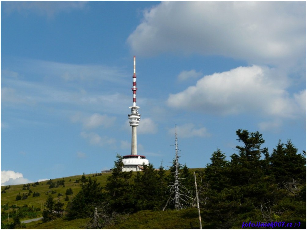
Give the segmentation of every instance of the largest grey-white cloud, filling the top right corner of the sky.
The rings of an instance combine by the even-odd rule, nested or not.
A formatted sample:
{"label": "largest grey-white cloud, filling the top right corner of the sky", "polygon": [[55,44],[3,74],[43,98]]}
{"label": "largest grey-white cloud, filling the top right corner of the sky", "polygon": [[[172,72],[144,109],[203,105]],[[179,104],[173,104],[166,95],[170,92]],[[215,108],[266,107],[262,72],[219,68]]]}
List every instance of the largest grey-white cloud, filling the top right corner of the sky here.
{"label": "largest grey-white cloud, filling the top right corner of the sky", "polygon": [[162,1],[144,11],[127,42],[137,55],[181,51],[305,63],[305,9],[305,1]]}

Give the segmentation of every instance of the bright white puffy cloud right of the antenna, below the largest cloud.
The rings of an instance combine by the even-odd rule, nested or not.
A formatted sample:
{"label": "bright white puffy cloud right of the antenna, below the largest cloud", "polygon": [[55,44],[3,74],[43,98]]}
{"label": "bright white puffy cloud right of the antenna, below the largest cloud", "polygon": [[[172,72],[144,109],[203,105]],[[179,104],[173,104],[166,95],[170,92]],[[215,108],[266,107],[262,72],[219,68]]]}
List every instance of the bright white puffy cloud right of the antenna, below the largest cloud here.
{"label": "bright white puffy cloud right of the antenna, below the largest cloud", "polygon": [[[274,69],[261,66],[238,67],[207,75],[177,94],[170,94],[170,107],[215,115],[260,113],[279,117],[296,117],[306,104],[303,91],[290,96],[287,82]],[[304,94],[305,93],[305,94]],[[298,105],[297,101],[300,101]],[[306,99],[305,99],[306,101]]]}

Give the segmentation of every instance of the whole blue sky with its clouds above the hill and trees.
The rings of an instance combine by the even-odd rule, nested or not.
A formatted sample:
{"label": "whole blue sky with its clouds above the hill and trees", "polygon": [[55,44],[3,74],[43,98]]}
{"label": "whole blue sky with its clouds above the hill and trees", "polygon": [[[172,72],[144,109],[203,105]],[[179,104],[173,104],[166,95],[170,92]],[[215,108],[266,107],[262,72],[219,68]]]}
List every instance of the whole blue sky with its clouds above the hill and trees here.
{"label": "whole blue sky with its clouds above the hill and trees", "polygon": [[1,1],[1,185],[130,154],[205,167],[237,129],[306,150],[306,1]]}

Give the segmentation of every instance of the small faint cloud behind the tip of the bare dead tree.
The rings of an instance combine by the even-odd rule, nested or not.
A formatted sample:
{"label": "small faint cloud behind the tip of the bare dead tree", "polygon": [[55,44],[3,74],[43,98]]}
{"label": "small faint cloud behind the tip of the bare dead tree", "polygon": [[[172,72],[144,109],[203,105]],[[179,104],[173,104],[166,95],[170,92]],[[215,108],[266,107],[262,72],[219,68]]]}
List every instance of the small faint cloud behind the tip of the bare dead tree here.
{"label": "small faint cloud behind the tip of the bare dead tree", "polygon": [[[209,137],[209,134],[205,127],[197,128],[192,123],[176,126],[177,136],[180,138],[191,138],[191,137]],[[169,129],[169,134],[175,134],[175,128]]]}

